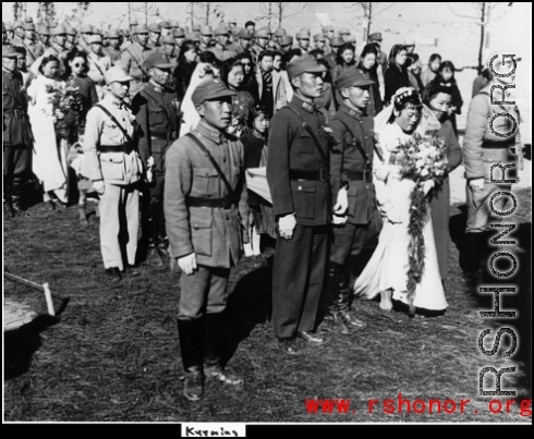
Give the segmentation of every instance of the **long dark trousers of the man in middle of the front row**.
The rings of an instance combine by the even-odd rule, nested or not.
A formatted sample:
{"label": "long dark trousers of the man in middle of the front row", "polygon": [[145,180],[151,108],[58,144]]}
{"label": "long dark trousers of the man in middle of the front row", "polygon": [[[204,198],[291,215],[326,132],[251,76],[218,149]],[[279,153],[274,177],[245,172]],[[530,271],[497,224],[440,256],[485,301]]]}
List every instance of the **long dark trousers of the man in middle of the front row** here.
{"label": "long dark trousers of the man in middle of the front row", "polygon": [[328,261],[327,225],[296,224],[293,237],[277,239],[272,266],[272,328],[294,337],[315,328]]}

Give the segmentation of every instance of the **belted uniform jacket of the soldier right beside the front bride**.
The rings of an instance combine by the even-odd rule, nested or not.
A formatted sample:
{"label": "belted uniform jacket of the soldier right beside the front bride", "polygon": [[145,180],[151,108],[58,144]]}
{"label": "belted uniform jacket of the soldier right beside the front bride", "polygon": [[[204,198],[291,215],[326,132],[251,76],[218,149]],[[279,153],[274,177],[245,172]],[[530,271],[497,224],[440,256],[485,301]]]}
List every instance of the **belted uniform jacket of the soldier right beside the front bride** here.
{"label": "belted uniform jacket of the soldier right beside the front bride", "polygon": [[[354,138],[345,125],[356,135],[356,138]],[[366,183],[364,181],[351,180],[347,172],[362,172],[367,170],[372,179],[373,148],[375,145],[373,117],[363,114],[343,102],[339,111],[331,119],[329,126],[333,131],[333,136],[339,142],[330,156],[332,197],[336,199],[339,188],[348,183],[348,222],[351,224],[367,224],[373,219],[376,209],[375,186],[372,182]],[[365,150],[368,159],[367,166],[354,141]]]}

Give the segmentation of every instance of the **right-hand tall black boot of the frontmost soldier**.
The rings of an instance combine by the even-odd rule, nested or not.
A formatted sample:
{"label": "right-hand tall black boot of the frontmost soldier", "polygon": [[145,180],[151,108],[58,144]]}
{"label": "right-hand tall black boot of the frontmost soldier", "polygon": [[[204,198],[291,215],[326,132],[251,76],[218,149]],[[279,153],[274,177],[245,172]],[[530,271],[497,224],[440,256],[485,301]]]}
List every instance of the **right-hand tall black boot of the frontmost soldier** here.
{"label": "right-hand tall black boot of the frontmost soldier", "polygon": [[240,386],[243,380],[228,374],[221,364],[223,342],[224,313],[206,314],[204,326],[204,373],[207,378],[215,378],[226,385]]}

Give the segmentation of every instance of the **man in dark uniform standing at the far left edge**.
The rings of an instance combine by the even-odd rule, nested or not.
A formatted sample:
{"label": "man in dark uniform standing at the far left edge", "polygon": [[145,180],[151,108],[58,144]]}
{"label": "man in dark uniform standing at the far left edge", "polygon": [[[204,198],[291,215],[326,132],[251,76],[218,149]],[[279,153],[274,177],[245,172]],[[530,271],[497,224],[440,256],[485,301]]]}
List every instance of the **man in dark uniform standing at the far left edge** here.
{"label": "man in dark uniform standing at the far left edge", "polygon": [[16,52],[2,46],[3,202],[9,214],[21,211],[21,195],[32,173],[33,136]]}

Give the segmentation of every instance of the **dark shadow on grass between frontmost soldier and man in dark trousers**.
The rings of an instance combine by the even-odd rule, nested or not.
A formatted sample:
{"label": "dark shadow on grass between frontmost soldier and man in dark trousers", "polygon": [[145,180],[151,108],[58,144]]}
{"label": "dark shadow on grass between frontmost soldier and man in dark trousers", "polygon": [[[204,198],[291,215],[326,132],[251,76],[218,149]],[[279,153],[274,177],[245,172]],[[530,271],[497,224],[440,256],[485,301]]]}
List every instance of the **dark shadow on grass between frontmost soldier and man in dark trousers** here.
{"label": "dark shadow on grass between frontmost soldier and man in dark trousers", "polygon": [[270,320],[272,314],[272,257],[267,264],[243,276],[227,306],[228,338],[223,355],[226,364],[236,351],[239,343],[251,334],[253,329]]}

